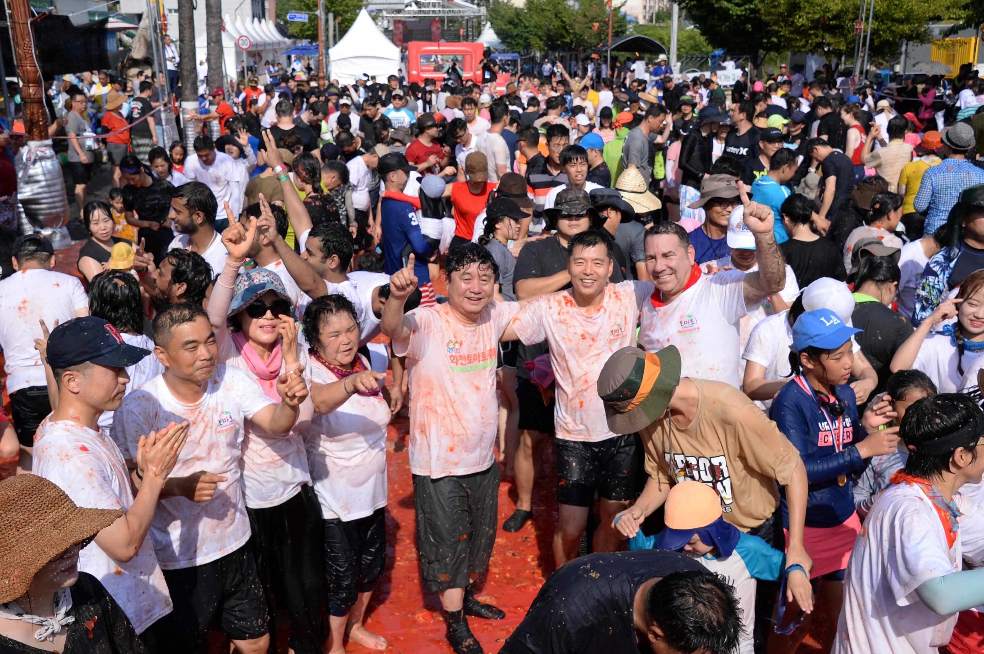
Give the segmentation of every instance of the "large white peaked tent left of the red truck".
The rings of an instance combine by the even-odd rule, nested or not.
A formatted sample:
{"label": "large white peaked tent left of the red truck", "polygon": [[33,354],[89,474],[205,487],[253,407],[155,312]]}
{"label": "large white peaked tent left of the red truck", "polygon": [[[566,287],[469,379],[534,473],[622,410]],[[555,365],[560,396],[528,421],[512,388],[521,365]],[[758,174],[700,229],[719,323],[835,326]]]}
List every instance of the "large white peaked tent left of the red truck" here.
{"label": "large white peaked tent left of the red truck", "polygon": [[328,56],[332,78],[341,84],[352,84],[363,73],[385,80],[388,75],[396,75],[400,68],[400,48],[376,27],[365,9],[329,50]]}

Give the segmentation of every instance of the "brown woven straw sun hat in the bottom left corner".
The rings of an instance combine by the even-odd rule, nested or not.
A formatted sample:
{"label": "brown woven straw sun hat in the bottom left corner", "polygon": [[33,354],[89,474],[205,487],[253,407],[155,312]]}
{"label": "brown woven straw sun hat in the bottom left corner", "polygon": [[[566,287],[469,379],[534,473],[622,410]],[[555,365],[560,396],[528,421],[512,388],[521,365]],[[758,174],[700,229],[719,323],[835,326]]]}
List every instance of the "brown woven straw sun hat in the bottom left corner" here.
{"label": "brown woven straw sun hat in the bottom left corner", "polygon": [[116,521],[123,511],[80,508],[65,492],[36,475],[0,482],[0,603],[28,592],[37,571]]}

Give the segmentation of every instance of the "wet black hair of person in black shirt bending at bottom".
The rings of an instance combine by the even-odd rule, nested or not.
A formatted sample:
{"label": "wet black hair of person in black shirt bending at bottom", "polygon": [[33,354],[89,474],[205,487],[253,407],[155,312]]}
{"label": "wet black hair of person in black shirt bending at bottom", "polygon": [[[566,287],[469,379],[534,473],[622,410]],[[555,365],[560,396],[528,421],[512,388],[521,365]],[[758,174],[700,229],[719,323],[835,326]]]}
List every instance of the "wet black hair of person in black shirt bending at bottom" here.
{"label": "wet black hair of person in black shirt bending at bottom", "polygon": [[667,574],[649,589],[646,616],[674,651],[730,654],[738,649],[741,609],[734,588],[720,574]]}

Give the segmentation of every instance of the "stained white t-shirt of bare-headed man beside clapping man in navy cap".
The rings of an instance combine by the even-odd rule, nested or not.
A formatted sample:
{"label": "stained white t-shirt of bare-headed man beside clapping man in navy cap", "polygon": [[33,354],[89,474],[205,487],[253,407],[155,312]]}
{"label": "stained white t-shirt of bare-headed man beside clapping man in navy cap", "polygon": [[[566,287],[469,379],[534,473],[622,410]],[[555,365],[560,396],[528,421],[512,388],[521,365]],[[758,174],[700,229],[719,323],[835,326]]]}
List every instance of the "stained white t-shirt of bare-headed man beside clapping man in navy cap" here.
{"label": "stained white t-shirt of bare-headed man beside clapping man in navy cap", "polygon": [[248,374],[232,366],[215,366],[206,385],[201,399],[185,404],[158,375],[127,395],[113,416],[113,440],[123,438],[134,459],[141,435],[187,420],[188,440],[171,476],[205,470],[225,477],[209,502],[183,497],[157,502],[151,538],[165,570],[211,563],[238,550],[250,536],[240,473],[243,422],[274,400]]}

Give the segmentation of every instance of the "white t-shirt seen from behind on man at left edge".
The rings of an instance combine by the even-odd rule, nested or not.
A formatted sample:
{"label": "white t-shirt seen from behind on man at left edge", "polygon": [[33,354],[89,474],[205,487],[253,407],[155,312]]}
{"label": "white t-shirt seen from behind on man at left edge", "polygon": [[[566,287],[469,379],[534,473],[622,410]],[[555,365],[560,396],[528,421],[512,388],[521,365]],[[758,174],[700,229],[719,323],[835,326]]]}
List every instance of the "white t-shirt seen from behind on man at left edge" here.
{"label": "white t-shirt seen from behind on man at left edge", "polygon": [[75,312],[89,311],[89,296],[78,277],[30,268],[0,281],[0,347],[3,347],[7,392],[47,386],[44,364],[34,349],[43,320],[48,329],[64,325]]}

